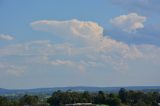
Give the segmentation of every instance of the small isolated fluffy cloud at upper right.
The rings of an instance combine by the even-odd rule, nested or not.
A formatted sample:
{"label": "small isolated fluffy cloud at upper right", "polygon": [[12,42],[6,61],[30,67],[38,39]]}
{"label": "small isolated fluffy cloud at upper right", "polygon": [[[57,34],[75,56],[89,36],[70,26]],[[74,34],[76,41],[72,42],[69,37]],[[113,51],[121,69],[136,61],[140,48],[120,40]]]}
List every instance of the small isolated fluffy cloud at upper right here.
{"label": "small isolated fluffy cloud at upper right", "polygon": [[145,16],[140,16],[137,13],[121,15],[110,20],[110,23],[123,31],[134,32],[137,29],[144,28]]}

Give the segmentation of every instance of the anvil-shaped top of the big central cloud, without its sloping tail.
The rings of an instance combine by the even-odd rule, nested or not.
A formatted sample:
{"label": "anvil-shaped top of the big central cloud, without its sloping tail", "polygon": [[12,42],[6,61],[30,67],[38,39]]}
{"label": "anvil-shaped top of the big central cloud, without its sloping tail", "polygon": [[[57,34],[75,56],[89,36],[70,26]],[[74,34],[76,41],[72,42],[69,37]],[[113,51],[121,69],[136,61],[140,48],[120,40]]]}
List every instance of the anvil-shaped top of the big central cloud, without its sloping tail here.
{"label": "anvil-shaped top of the big central cloud, without its sloping tail", "polygon": [[[63,37],[77,39],[99,39],[103,34],[103,28],[95,22],[83,22],[77,19],[67,21],[40,20],[31,23],[35,30],[52,32]],[[68,36],[69,35],[69,36]]]}

